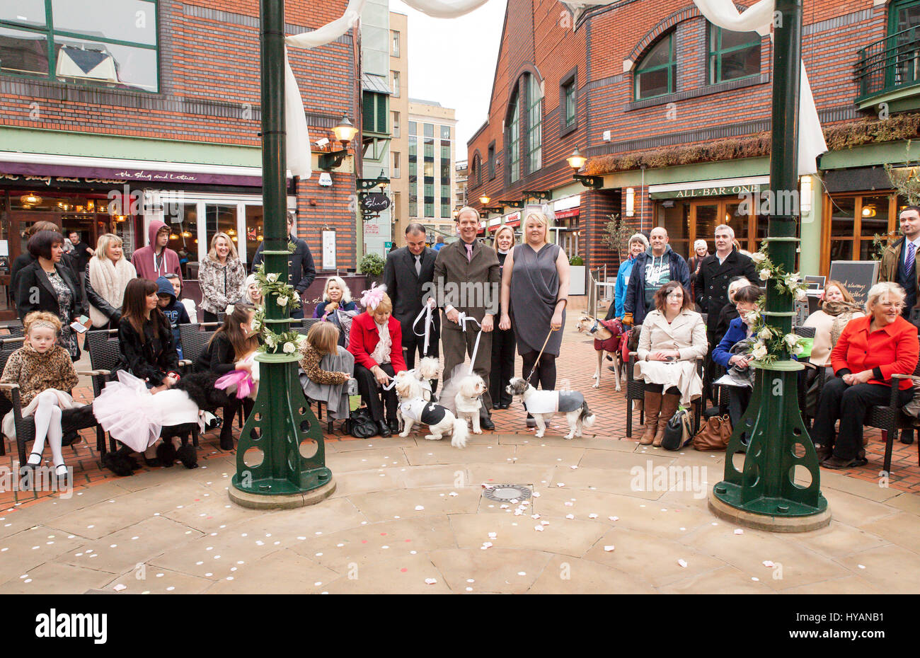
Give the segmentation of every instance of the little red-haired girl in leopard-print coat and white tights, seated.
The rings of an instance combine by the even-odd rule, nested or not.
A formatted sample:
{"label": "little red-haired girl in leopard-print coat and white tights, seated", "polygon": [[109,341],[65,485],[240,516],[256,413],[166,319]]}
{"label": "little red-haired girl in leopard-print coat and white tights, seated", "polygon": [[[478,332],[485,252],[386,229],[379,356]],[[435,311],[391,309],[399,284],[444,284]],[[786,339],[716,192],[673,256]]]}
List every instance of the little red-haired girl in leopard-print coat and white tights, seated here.
{"label": "little red-haired girl in leopard-print coat and white tights, seated", "polygon": [[[39,466],[47,442],[52,449],[55,475],[63,478],[67,475],[67,467],[61,451],[62,413],[63,410],[83,406],[70,395],[77,383],[74,362],[70,353],[56,343],[61,331],[61,320],[57,316],[46,311],[33,311],[22,324],[26,338],[22,347],[7,359],[0,383],[19,387],[19,402],[25,405],[22,415],[32,416],[35,420],[35,442],[26,463]],[[13,398],[6,389],[3,394]],[[4,416],[3,433],[10,439],[16,439],[12,410]]]}

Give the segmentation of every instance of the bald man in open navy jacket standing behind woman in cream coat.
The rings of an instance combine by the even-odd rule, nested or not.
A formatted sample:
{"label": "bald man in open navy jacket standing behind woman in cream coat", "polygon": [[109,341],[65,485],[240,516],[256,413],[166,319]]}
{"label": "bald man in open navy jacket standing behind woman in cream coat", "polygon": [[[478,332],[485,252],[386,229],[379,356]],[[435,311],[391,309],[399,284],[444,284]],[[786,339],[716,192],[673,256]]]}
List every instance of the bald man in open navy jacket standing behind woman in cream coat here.
{"label": "bald man in open navy jacket standing behind woman in cream coat", "polygon": [[629,275],[627,296],[623,302],[623,322],[640,325],[655,307],[655,293],[662,285],[679,281],[684,294],[690,294],[690,269],[687,261],[668,244],[664,226],[655,226],[649,234],[650,248],[636,257]]}

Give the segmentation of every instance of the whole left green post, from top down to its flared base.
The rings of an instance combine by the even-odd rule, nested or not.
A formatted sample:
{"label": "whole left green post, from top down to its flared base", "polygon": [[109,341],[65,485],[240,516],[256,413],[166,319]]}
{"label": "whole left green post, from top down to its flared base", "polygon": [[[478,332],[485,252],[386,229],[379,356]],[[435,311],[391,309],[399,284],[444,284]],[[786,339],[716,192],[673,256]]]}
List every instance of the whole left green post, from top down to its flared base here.
{"label": "whole left green post, from top down to its flared base", "polygon": [[[288,280],[287,164],[284,151],[284,2],[260,0],[262,207],[265,271]],[[290,326],[277,294],[265,300],[265,325]],[[245,507],[299,507],[327,498],[335,480],[326,468],[323,433],[297,377],[298,352],[259,353],[259,395],[236,447],[230,499]],[[229,420],[227,420],[229,422]],[[247,461],[249,464],[247,464]]]}

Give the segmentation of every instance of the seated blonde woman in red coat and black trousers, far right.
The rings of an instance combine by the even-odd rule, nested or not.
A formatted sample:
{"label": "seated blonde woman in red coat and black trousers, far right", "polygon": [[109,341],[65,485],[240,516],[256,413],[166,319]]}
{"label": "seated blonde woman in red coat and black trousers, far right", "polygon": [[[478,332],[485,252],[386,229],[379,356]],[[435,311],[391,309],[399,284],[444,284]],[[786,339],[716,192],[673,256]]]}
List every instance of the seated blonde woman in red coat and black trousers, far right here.
{"label": "seated blonde woman in red coat and black trousers, far right", "polygon": [[[866,464],[863,418],[873,405],[887,405],[891,387],[906,404],[913,397],[910,379],[917,364],[917,329],[901,317],[904,290],[897,283],[876,283],[868,291],[868,316],[850,320],[831,352],[834,379],[821,391],[811,436],[821,444],[822,466],[852,468]],[[840,431],[834,437],[834,423]]]}

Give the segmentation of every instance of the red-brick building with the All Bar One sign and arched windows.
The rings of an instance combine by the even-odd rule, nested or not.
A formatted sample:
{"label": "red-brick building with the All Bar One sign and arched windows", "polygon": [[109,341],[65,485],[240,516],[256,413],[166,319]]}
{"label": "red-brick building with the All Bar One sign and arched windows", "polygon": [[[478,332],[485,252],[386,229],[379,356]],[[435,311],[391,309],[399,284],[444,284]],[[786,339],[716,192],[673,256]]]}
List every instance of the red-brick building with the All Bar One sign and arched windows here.
{"label": "red-brick building with the All Bar One sign and arched windows", "polygon": [[[904,199],[884,165],[906,172],[920,159],[909,142],[920,127],[918,25],[920,0],[805,6],[802,57],[830,149],[801,181],[805,273],[868,259],[873,236],[897,228]],[[745,213],[739,195],[768,183],[772,54],[768,37],[718,29],[689,0],[575,14],[509,0],[489,117],[467,147],[484,230],[550,196],[569,255],[611,275],[619,258],[601,238],[614,213],[646,232],[665,226],[684,256],[697,237],[712,250],[722,223],[758,248],[766,217]],[[576,148],[592,177],[583,185],[566,161]]]}

